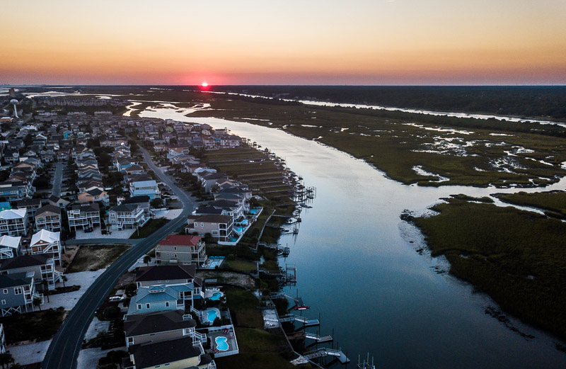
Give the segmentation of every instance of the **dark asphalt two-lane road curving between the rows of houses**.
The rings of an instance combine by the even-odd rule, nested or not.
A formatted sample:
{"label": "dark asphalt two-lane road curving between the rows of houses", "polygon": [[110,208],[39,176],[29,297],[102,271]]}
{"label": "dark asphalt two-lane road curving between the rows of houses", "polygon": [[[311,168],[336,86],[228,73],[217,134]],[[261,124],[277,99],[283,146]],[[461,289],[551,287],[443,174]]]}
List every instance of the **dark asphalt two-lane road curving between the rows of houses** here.
{"label": "dark asphalt two-lane road curving between the rows of houses", "polygon": [[102,304],[110,290],[127,269],[132,266],[137,259],[151,250],[163,237],[176,231],[181,225],[187,222],[187,215],[192,212],[195,203],[175,183],[168,178],[161,169],[158,169],[153,162],[149,153],[140,147],[141,152],[149,167],[154,171],[163,183],[165,183],[178,196],[183,203],[183,212],[167,225],[156,230],[141,242],[132,246],[124,255],[117,259],[112,265],[91,285],[84,293],[81,300],[76,303],[75,307],[69,313],[67,319],[64,320],[62,326],[53,337],[51,345],[45,354],[45,358],[41,365],[42,369],[74,369],[76,368],[76,358],[79,356],[81,345],[83,342],[86,329],[94,317],[96,309]]}

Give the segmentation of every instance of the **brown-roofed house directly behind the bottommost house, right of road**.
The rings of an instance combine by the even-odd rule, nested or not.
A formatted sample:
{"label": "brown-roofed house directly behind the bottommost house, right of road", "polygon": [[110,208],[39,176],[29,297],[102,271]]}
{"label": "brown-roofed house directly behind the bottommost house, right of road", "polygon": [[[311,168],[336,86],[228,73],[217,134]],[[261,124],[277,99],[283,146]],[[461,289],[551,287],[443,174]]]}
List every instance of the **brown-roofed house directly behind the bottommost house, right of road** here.
{"label": "brown-roofed house directly behind the bottommost house, right of road", "polygon": [[124,332],[126,347],[146,342],[192,338],[193,344],[206,342],[207,335],[195,331],[197,322],[182,310],[126,315]]}

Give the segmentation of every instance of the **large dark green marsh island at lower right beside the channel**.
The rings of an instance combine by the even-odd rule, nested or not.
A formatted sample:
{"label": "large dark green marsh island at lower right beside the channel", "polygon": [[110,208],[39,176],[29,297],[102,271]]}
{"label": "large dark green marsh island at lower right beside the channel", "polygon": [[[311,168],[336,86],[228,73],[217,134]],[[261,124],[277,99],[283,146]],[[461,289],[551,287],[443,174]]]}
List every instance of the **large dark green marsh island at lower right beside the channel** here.
{"label": "large dark green marsh island at lower right beside the channel", "polygon": [[415,224],[451,273],[524,321],[566,338],[566,223],[451,198]]}

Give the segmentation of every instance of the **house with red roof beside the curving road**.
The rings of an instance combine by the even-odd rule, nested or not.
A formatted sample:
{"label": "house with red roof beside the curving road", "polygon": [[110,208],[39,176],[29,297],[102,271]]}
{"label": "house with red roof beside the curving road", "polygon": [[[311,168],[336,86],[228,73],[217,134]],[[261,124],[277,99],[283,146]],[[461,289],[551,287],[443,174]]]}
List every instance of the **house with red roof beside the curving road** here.
{"label": "house with red roof beside the curving road", "polygon": [[208,259],[202,237],[184,234],[169,234],[157,244],[155,253],[158,264],[200,266]]}

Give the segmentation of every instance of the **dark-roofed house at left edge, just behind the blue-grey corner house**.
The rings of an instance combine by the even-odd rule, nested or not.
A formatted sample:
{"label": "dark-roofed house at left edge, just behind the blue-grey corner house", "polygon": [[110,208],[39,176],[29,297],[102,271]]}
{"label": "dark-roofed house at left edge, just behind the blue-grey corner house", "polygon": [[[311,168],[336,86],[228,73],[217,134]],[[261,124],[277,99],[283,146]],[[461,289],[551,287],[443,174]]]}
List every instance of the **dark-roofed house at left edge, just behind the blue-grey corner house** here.
{"label": "dark-roofed house at left edge, just behind the blue-grey corner house", "polygon": [[[0,275],[15,275],[21,273],[33,274],[36,288],[44,290],[55,289],[55,283],[62,281],[63,273],[55,269],[55,261],[47,254],[21,255],[6,259],[0,264]],[[47,281],[47,286],[43,284]]]}

